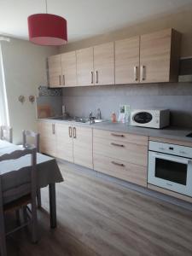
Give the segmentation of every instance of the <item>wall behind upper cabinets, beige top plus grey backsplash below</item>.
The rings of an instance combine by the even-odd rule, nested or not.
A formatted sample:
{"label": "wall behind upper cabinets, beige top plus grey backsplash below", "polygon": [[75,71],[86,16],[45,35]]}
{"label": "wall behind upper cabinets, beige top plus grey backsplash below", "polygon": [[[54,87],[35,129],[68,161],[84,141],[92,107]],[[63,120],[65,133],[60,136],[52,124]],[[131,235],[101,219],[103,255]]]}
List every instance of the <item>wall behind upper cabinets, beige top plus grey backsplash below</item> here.
{"label": "wall behind upper cabinets, beige top plus grey backsplash below", "polygon": [[[175,15],[143,20],[143,23],[135,26],[127,26],[116,32],[108,32],[95,38],[67,44],[61,47],[60,52],[129,38],[167,27],[173,27],[183,33],[181,56],[192,56],[191,8]],[[63,104],[72,115],[87,116],[90,110],[101,108],[102,117],[108,119],[112,111],[119,113],[119,105],[124,103],[130,104],[131,108],[170,108],[172,125],[192,128],[192,83],[129,84],[63,89]]]}

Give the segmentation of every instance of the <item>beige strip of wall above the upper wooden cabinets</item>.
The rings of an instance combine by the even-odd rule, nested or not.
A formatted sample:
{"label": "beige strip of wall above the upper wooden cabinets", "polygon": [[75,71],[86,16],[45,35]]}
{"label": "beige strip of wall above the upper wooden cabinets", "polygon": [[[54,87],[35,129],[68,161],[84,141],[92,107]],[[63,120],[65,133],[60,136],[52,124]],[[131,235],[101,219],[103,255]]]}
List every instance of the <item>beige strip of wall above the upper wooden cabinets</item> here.
{"label": "beige strip of wall above the upper wooden cabinets", "polygon": [[148,32],[155,32],[168,27],[175,28],[178,32],[183,33],[181,56],[192,56],[192,6],[189,6],[187,11],[160,16],[150,20],[143,20],[143,22],[132,26],[127,25],[125,28],[118,31],[108,32],[103,35],[97,35],[94,38],[88,38],[79,42],[66,44],[60,48],[60,52],[62,53],[74,49],[82,49],[122,38],[131,38],[133,36]]}

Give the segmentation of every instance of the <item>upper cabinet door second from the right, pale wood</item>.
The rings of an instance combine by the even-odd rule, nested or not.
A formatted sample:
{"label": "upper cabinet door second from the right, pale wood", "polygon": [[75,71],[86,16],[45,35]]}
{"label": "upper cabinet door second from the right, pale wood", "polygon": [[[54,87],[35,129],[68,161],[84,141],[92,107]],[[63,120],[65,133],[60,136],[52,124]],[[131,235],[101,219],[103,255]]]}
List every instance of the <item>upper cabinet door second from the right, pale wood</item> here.
{"label": "upper cabinet door second from the right, pale wood", "polygon": [[115,42],[115,84],[139,82],[139,37]]}

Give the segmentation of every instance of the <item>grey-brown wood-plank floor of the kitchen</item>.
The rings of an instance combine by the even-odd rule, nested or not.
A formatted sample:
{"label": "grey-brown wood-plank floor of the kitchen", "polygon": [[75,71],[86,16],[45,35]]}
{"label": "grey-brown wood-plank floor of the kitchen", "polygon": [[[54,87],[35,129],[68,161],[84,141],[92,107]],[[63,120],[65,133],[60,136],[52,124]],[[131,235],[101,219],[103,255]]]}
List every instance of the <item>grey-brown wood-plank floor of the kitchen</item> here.
{"label": "grey-brown wood-plank floor of the kitchen", "polygon": [[78,167],[61,164],[58,228],[49,230],[48,190],[39,215],[39,242],[26,231],[9,237],[10,256],[192,255],[192,212],[131,191]]}

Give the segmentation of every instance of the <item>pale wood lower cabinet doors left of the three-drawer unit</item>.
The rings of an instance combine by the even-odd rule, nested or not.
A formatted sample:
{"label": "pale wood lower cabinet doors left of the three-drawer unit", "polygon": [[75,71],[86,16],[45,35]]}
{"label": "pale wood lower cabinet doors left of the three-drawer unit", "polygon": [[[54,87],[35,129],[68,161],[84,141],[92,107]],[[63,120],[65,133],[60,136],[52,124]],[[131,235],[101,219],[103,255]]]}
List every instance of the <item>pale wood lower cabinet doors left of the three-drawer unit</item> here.
{"label": "pale wood lower cabinet doors left of the three-drawer unit", "polygon": [[92,128],[41,121],[38,132],[42,153],[93,168]]}

